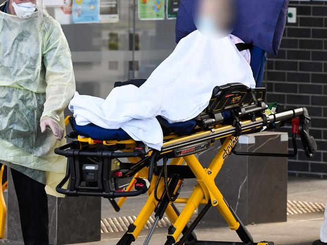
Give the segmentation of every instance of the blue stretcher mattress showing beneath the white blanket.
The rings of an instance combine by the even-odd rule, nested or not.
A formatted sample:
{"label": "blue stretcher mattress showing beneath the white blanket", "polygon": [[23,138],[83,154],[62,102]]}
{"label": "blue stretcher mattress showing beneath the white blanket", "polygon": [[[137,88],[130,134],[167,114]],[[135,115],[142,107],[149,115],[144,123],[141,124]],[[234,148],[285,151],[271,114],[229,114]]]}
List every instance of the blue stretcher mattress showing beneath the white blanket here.
{"label": "blue stretcher mattress showing beneath the white blanket", "polygon": [[[196,126],[196,120],[192,119],[186,122],[169,123],[166,119],[160,118],[160,121],[165,122],[172,132],[179,135],[189,134]],[[94,124],[86,126],[78,126],[74,120],[74,130],[78,135],[90,137],[95,140],[128,140],[131,137],[123,129],[105,129]]]}

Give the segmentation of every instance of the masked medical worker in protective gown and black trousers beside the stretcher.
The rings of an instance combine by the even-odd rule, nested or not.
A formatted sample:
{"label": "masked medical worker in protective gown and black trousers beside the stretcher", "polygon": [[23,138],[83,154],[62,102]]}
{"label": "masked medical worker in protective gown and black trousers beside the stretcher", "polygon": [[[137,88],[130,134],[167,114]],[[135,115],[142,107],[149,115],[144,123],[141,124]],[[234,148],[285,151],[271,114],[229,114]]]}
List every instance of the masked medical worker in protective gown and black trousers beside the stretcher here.
{"label": "masked medical worker in protective gown and black trousers beside the stretcher", "polygon": [[63,110],[74,92],[68,43],[41,0],[2,4],[0,162],[12,172],[27,245],[49,244],[46,191],[58,195],[65,173],[54,148],[65,143]]}

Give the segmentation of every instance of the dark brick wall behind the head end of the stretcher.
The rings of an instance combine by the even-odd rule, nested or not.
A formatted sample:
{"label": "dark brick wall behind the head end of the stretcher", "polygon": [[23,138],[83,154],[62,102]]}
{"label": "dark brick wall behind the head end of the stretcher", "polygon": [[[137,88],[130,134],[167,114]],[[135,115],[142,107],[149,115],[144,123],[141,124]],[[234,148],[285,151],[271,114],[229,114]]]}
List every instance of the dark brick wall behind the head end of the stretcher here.
{"label": "dark brick wall behind the head end of the stretcher", "polygon": [[267,101],[308,108],[318,151],[309,159],[299,150],[289,158],[289,173],[327,177],[327,2],[291,1],[289,7],[297,8],[297,22],[287,23],[278,56],[269,56]]}

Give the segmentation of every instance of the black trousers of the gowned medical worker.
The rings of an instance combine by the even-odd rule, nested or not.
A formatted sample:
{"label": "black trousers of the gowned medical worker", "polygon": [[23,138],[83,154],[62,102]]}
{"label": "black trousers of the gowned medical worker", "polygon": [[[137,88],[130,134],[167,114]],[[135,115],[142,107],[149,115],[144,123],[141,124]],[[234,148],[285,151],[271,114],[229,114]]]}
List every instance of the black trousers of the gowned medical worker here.
{"label": "black trousers of the gowned medical worker", "polygon": [[49,245],[48,198],[45,185],[11,169],[25,245]]}

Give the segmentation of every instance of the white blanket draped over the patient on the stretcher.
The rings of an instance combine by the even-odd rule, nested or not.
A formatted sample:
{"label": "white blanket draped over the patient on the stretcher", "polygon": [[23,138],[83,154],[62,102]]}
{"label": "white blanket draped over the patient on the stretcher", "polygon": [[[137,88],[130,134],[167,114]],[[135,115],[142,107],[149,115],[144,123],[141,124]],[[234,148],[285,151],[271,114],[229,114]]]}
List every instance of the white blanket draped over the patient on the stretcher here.
{"label": "white blanket draped over the patient on the stretcher", "polygon": [[179,42],[140,88],[114,88],[106,100],[76,92],[69,110],[77,125],[122,128],[134,140],[160,149],[163,136],[155,116],[170,122],[195,118],[208,105],[213,88],[228,83],[254,88],[249,63],[228,37],[209,39],[194,31]]}

